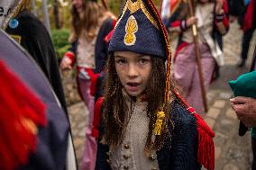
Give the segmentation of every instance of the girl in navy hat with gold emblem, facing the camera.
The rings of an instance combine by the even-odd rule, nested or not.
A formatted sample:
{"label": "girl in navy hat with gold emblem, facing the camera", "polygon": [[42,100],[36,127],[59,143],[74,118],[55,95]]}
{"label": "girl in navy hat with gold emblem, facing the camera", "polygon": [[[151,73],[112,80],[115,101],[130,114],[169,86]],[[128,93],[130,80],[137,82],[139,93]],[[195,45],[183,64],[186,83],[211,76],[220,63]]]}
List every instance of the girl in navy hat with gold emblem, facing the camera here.
{"label": "girl in navy hat with gold emblem, facing the camera", "polygon": [[151,0],[126,2],[109,52],[96,169],[213,170],[214,133],[174,91],[167,33]]}

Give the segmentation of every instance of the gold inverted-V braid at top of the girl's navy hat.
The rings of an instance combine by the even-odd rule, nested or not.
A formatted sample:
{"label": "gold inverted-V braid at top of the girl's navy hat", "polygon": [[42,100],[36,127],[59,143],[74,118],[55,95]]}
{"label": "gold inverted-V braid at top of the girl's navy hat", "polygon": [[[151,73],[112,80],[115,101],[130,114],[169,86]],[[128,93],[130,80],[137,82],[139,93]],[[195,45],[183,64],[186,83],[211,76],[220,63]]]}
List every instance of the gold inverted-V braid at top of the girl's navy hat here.
{"label": "gold inverted-V braid at top of the girl's navy hat", "polygon": [[142,0],[137,0],[136,2],[132,2],[131,0],[127,0],[125,6],[123,7],[123,13],[119,20],[115,24],[115,28],[118,25],[118,23],[122,20],[124,13],[126,10],[129,9],[131,12],[130,14],[133,14],[137,12],[139,9],[142,10],[142,12],[145,14],[145,16],[148,18],[148,20],[159,30],[158,23],[156,20],[151,16],[151,13],[148,12],[146,6],[142,3]]}

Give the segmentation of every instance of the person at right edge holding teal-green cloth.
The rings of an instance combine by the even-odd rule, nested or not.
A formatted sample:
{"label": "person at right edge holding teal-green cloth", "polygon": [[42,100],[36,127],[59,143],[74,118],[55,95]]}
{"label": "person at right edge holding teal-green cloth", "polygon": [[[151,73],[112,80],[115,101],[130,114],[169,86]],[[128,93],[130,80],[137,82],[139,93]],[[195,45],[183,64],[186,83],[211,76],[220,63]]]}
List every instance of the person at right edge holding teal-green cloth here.
{"label": "person at right edge holding teal-green cloth", "polygon": [[[253,58],[256,58],[256,46]],[[255,60],[254,60],[255,62]],[[256,169],[256,66],[251,66],[251,72],[244,74],[233,83],[233,93],[236,97],[230,99],[231,106],[241,121],[239,135],[243,136],[251,128],[251,148],[253,161],[251,169]],[[240,84],[240,85],[239,85]]]}

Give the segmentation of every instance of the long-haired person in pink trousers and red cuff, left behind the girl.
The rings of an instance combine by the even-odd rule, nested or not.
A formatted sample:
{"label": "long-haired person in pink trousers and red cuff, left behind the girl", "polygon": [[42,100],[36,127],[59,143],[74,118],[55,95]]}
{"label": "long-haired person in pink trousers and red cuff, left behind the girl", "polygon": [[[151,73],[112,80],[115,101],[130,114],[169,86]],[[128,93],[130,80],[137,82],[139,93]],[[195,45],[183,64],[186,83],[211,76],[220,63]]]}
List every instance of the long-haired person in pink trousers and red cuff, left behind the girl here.
{"label": "long-haired person in pink trousers and red cuff, left behind the girl", "polygon": [[86,144],[81,169],[94,170],[96,140],[91,136],[94,115],[96,79],[105,66],[108,43],[105,36],[113,29],[114,19],[94,1],[73,0],[69,41],[72,48],[60,63],[71,68],[77,61],[78,92],[88,108]]}

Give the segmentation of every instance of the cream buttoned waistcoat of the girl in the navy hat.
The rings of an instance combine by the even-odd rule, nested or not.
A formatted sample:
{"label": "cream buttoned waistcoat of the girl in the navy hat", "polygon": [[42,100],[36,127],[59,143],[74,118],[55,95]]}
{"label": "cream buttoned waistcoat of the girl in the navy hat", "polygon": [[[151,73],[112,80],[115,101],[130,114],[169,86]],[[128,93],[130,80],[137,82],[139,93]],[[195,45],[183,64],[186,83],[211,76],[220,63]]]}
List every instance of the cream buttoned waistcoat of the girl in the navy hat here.
{"label": "cream buttoned waistcoat of the girl in the navy hat", "polygon": [[[127,104],[130,106],[130,102]],[[133,114],[127,124],[122,145],[110,148],[110,166],[113,170],[159,170],[156,152],[152,153],[154,160],[144,153],[150,121],[146,112],[147,103],[137,102],[132,105]]]}

